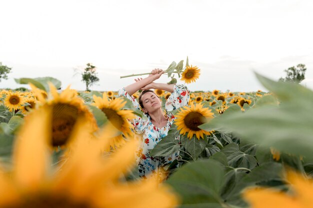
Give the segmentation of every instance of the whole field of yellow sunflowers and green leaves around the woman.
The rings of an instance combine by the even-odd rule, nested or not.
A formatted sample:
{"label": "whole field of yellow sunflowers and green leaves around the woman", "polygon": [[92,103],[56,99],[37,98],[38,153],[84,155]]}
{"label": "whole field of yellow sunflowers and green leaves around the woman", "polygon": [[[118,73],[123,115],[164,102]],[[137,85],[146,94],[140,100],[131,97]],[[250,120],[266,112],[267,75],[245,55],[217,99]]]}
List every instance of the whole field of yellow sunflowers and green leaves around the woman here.
{"label": "whole field of yellow sunflowers and green leaves around the woman", "polygon": [[[166,72],[187,83],[198,70],[179,62]],[[313,92],[256,76],[268,92],[190,92],[150,149],[179,156],[147,179],[127,121],[144,116],[129,100],[15,79],[31,90],[0,91],[0,207],[311,207]],[[163,106],[170,95],[155,94]]]}

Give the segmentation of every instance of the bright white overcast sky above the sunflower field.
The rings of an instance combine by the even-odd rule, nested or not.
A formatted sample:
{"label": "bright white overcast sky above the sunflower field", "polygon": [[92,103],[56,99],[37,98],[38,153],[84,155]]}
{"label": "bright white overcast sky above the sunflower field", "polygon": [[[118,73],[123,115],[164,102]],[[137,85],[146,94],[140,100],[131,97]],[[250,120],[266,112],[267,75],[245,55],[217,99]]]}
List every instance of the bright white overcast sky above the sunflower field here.
{"label": "bright white overcast sky above the sunflower field", "polygon": [[121,75],[186,56],[201,69],[192,91],[264,90],[253,71],[278,79],[298,63],[313,88],[312,10],[311,0],[0,0],[0,61],[12,67],[0,88],[52,76],[83,90],[73,68],[91,62],[91,89],[117,90],[134,78]]}

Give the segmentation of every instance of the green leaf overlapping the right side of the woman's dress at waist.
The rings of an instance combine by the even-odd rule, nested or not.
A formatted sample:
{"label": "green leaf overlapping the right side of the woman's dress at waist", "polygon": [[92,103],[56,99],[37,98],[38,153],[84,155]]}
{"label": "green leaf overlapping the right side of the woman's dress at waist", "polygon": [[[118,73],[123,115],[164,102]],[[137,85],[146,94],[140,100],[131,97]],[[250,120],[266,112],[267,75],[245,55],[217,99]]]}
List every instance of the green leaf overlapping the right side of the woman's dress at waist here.
{"label": "green leaf overlapping the right side of the woman's dress at waist", "polygon": [[175,139],[179,135],[176,128],[170,128],[167,135],[162,138],[150,151],[151,156],[167,156],[179,151],[179,140]]}

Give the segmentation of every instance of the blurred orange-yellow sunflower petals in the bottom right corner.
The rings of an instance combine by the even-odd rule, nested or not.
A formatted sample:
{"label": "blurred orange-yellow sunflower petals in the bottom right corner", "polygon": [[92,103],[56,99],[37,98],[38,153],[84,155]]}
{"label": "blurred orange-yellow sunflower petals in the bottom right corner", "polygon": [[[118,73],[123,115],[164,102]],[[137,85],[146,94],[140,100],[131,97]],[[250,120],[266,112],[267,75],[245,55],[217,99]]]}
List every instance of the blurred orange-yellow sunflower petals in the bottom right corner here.
{"label": "blurred orange-yellow sunflower petals in the bottom right corner", "polygon": [[287,181],[291,191],[282,192],[273,188],[249,188],[243,192],[243,197],[253,208],[285,208],[312,207],[313,181],[293,171],[287,172]]}

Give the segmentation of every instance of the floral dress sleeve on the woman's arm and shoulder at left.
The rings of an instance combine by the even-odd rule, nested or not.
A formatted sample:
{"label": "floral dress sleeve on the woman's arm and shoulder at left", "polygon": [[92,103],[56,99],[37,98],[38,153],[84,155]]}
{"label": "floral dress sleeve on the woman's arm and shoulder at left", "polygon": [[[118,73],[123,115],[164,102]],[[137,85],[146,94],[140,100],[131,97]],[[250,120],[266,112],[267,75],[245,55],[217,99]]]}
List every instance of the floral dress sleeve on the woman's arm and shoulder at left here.
{"label": "floral dress sleeve on the woman's arm and shoulder at left", "polygon": [[[137,100],[132,96],[132,95],[129,95],[127,93],[127,91],[125,90],[125,88],[121,88],[118,90],[118,96],[124,96],[126,97],[127,99],[129,99],[131,102],[132,102],[132,105],[136,108],[136,109],[140,109],[140,105],[139,103],[137,102]],[[144,129],[145,127],[145,124],[146,124],[146,120],[147,119],[142,119],[141,117],[135,115],[136,118],[133,118],[133,119],[128,119],[128,121],[130,121],[130,123],[133,125],[134,127],[134,130],[138,133],[141,133],[142,130]],[[144,114],[144,116],[146,116]]]}

